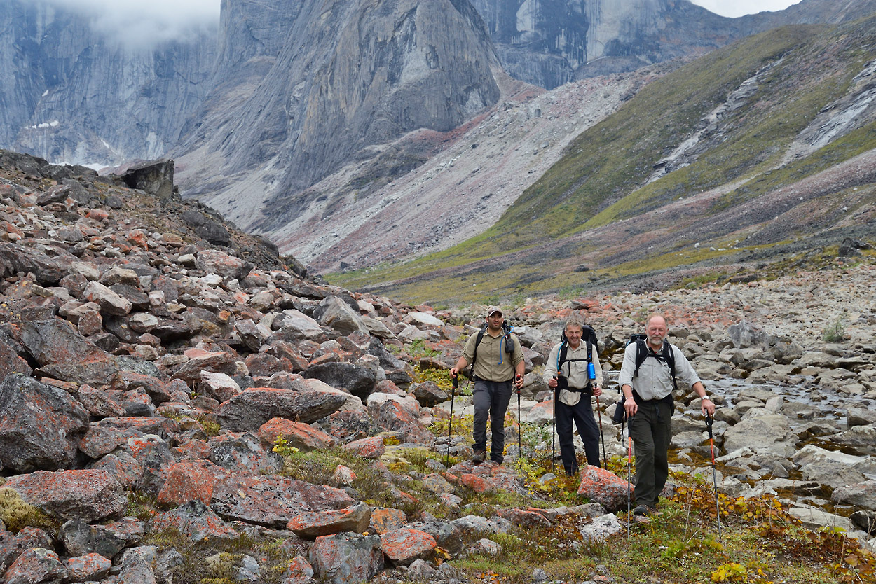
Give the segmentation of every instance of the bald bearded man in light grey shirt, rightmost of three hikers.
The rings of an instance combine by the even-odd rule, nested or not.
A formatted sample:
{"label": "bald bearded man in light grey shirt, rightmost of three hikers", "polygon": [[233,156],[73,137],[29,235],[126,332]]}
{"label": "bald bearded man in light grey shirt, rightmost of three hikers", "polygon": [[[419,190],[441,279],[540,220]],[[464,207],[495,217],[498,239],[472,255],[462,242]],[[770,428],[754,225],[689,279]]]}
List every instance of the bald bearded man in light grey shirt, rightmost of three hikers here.
{"label": "bald bearded man in light grey shirt, rightmost of three hikers", "polygon": [[[675,380],[703,398],[703,415],[715,413],[715,405],[706,397],[703,382],[682,351],[666,341],[667,323],[661,314],[652,314],[646,324],[647,357],[636,375],[637,343],[631,342],[620,367],[620,390],[624,392],[624,410],[630,420],[630,436],[636,454],[636,515],[650,515],[657,507],[669,475],[668,451],[672,439],[672,391]],[[675,362],[675,376],[666,351]]]}

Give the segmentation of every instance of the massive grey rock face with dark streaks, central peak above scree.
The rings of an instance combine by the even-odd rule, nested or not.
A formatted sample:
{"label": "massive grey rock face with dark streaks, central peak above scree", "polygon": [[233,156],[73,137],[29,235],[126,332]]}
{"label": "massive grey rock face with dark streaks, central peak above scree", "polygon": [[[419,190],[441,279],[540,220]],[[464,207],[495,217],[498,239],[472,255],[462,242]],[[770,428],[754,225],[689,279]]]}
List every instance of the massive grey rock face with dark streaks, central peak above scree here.
{"label": "massive grey rock face with dark streaks, central peak above scree", "polygon": [[[272,11],[238,9],[247,7],[249,18],[223,18],[229,43],[241,39],[241,26],[270,28]],[[307,0],[293,16],[279,51],[265,46],[226,69],[224,87],[239,84],[246,99],[213,92],[201,127],[177,151],[189,193],[228,186],[216,174],[247,172],[246,201],[237,188],[216,197],[241,207],[231,211],[238,224],[258,217],[263,201],[251,200],[254,191],[306,188],[351,158],[371,158],[374,144],[421,128],[452,130],[498,101],[498,59],[468,2]]]}

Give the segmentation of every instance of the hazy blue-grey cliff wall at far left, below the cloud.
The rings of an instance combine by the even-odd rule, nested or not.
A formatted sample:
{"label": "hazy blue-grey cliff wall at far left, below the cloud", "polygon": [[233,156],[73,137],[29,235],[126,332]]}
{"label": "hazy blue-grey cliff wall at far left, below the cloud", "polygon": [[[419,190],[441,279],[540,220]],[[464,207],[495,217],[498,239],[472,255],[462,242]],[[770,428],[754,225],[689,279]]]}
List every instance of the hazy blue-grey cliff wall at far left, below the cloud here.
{"label": "hazy blue-grey cliff wall at far left, below the cloud", "polygon": [[0,3],[0,146],[78,164],[159,158],[204,99],[215,57],[215,27],[126,46],[77,11]]}

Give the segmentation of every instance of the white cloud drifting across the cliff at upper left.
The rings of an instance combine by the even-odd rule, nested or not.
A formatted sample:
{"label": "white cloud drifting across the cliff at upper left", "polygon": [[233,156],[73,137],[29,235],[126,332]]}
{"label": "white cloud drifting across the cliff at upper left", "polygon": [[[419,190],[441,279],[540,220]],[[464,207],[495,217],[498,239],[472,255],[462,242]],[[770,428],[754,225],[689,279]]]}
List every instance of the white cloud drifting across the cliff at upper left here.
{"label": "white cloud drifting across the cliff at upper left", "polygon": [[96,32],[127,46],[193,39],[216,30],[220,0],[36,0],[85,15]]}

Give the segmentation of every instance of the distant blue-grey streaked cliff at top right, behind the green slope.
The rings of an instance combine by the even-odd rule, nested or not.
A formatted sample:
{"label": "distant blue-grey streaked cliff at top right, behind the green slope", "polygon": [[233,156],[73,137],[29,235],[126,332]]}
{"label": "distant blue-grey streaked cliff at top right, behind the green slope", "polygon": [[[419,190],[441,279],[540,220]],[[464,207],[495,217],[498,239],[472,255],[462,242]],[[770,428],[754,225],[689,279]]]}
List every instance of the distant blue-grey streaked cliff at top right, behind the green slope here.
{"label": "distant blue-grey streaked cliff at top right, behind the green slope", "polygon": [[785,11],[725,18],[687,0],[471,0],[505,70],[544,88],[698,55],[780,25],[839,23],[876,3],[804,0]]}

